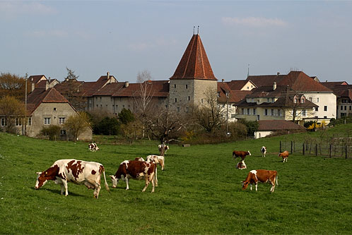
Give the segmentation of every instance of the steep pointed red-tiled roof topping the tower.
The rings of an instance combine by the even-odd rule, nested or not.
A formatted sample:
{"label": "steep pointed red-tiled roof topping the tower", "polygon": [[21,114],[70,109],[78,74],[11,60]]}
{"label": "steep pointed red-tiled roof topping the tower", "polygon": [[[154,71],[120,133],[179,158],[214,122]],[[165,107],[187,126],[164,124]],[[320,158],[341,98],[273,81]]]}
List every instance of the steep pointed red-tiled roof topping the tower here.
{"label": "steep pointed red-tiled roof topping the tower", "polygon": [[189,41],[180,64],[170,79],[174,78],[217,80],[199,35],[193,35]]}

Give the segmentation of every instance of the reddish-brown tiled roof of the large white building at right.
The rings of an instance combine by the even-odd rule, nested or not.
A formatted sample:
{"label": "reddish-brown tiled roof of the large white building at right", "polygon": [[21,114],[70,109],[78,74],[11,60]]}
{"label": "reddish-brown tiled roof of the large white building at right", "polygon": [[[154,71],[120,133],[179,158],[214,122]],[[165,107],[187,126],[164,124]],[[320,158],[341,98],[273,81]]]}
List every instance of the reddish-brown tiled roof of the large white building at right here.
{"label": "reddish-brown tiled roof of the large white building at right", "polygon": [[302,71],[291,71],[287,75],[248,76],[247,80],[252,80],[257,87],[273,85],[276,82],[277,85],[288,85],[297,92],[332,91]]}

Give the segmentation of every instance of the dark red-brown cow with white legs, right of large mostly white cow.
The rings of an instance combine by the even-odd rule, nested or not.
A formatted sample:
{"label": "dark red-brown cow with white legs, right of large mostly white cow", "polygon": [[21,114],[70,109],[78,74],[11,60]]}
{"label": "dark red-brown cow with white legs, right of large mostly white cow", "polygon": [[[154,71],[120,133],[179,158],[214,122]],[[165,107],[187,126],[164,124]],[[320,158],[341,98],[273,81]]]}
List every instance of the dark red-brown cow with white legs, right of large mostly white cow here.
{"label": "dark red-brown cow with white legs, right of large mostly white cow", "polygon": [[144,186],[142,192],[146,191],[149,183],[152,183],[154,192],[155,189],[155,173],[156,164],[153,162],[142,162],[140,160],[129,161],[126,160],[119,165],[115,175],[110,176],[112,179],[112,188],[116,188],[119,179],[126,181],[126,190],[129,190],[129,179],[144,179],[146,186]]}

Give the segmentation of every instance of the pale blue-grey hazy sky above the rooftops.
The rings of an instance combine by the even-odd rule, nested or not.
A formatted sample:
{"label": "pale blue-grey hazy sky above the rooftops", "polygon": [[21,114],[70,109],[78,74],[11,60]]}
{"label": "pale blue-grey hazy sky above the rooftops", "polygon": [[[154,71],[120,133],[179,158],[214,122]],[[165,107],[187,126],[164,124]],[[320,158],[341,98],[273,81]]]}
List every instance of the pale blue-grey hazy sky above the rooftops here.
{"label": "pale blue-grey hazy sky above the rooftops", "polygon": [[0,0],[0,72],[167,80],[194,25],[219,81],[249,68],[352,84],[352,1]]}

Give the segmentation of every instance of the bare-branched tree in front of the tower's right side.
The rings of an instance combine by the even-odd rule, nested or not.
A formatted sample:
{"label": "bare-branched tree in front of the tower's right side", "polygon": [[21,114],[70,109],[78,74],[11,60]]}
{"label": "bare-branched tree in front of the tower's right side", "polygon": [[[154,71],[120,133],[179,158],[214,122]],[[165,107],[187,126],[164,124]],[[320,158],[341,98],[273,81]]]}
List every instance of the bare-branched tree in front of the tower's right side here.
{"label": "bare-branched tree in front of the tower's right side", "polygon": [[211,133],[225,123],[226,112],[222,105],[218,105],[218,92],[215,89],[207,89],[205,95],[206,105],[194,109],[194,118],[200,126]]}

